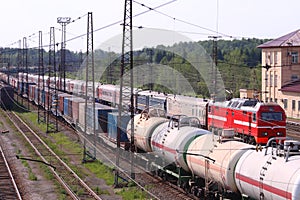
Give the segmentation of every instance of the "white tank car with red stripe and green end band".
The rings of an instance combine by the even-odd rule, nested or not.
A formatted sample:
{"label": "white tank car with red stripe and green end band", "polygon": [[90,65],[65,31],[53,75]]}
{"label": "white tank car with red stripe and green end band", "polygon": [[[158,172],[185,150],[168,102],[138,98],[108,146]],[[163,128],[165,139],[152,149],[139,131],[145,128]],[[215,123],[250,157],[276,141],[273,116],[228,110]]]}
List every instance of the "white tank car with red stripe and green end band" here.
{"label": "white tank car with red stripe and green end band", "polygon": [[191,141],[211,132],[199,129],[200,122],[195,117],[180,117],[176,121],[159,125],[151,137],[153,152],[163,159],[165,165],[176,164],[189,171],[185,162],[185,149]]}

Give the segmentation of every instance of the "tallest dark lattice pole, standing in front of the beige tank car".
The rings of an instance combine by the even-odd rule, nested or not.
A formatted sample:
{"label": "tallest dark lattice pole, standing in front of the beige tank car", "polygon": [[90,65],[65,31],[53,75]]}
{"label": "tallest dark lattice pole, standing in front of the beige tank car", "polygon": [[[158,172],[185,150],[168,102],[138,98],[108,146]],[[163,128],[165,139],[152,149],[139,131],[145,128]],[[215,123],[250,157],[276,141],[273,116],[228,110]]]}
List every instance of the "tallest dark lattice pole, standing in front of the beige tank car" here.
{"label": "tallest dark lattice pole, standing in front of the beige tank car", "polygon": [[133,102],[133,45],[132,45],[132,0],[125,0],[124,21],[123,21],[123,40],[120,70],[120,98],[118,107],[118,131],[117,131],[117,149],[116,149],[116,172],[115,186],[118,186],[119,177],[119,151],[121,139],[122,116],[131,118],[131,178],[135,178],[133,170],[134,158],[134,102]]}

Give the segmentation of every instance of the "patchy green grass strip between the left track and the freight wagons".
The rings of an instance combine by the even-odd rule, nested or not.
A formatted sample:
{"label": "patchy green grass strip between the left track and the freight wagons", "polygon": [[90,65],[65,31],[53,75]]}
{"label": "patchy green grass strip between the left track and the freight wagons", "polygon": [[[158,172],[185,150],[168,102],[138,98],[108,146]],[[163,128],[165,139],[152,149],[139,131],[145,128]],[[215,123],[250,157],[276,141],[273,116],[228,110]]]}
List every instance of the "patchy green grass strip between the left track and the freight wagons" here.
{"label": "patchy green grass strip between the left track and the freight wagons", "polygon": [[[46,132],[47,126],[45,123],[38,123],[38,116],[37,113],[32,113],[32,112],[19,112],[19,115],[22,117],[23,120],[29,122],[34,125],[34,127],[37,127],[39,130]],[[72,170],[80,177],[83,177],[83,171],[80,170],[78,167],[74,165],[70,165],[68,158],[65,154],[65,151],[68,151],[68,154],[73,154],[73,155],[83,155],[83,148],[82,145],[72,142],[66,135],[63,133],[50,133],[48,134],[50,137],[49,138],[43,138],[44,142],[62,159],[64,162],[66,162]],[[55,142],[53,142],[55,141]],[[107,185],[113,186],[114,184],[114,178],[115,175],[113,173],[113,168],[104,165],[100,161],[96,160],[94,162],[87,162],[84,164],[84,166],[90,170],[97,178],[103,179]],[[45,174],[47,178],[52,179],[53,175],[46,166],[42,166],[42,168],[45,171]],[[34,177],[33,177],[34,178]],[[120,179],[119,182],[122,182]],[[122,196],[123,199],[125,200],[131,200],[131,199],[147,199],[146,196],[147,194],[137,188],[135,184],[128,184],[129,187],[124,187],[122,189],[118,189],[116,191],[116,194]],[[63,188],[59,189],[60,196],[59,199],[64,199],[65,198],[65,191]],[[109,194],[107,190],[101,190],[99,187],[95,188],[95,191],[97,194]],[[80,193],[80,191],[78,191]]]}

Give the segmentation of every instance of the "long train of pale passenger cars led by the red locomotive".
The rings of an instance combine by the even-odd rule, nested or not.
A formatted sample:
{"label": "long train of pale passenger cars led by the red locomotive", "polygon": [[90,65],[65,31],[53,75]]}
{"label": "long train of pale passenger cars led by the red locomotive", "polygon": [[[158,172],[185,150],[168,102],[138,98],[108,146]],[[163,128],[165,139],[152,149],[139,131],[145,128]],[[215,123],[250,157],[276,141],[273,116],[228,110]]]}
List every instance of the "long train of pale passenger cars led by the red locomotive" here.
{"label": "long train of pale passenger cars led by the red locomotive", "polygon": [[[38,75],[19,73],[18,79],[10,77],[9,82],[19,93],[29,95],[37,100],[37,83],[40,86],[60,88],[64,83],[53,77],[44,76],[44,83]],[[3,81],[8,81],[6,74],[0,73]],[[28,83],[27,83],[28,79]],[[85,81],[66,79],[66,92],[70,95],[83,96]],[[92,84],[91,84],[92,85]],[[116,107],[119,102],[119,87],[111,84],[94,84],[95,101]],[[48,94],[49,93],[49,94]],[[45,95],[51,95],[45,90]],[[45,96],[44,95],[44,96]],[[88,91],[88,95],[92,96]],[[42,98],[41,98],[42,99]],[[64,98],[58,99],[63,102]],[[235,135],[249,144],[266,144],[272,137],[286,136],[285,111],[276,103],[263,103],[257,99],[231,99],[224,102],[213,102],[202,98],[170,95],[155,91],[135,89],[136,112],[148,107],[159,107],[166,111],[167,116],[187,115],[200,120],[201,127],[221,134],[224,129],[232,129]],[[45,100],[46,101],[46,100]],[[48,104],[48,102],[46,102]]]}

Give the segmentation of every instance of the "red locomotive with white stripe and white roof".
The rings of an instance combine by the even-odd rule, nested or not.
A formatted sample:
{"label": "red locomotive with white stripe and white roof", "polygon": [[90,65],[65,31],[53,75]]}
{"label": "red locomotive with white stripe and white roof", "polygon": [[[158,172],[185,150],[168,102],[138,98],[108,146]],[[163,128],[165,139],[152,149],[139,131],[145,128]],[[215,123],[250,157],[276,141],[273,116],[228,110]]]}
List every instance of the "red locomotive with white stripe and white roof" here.
{"label": "red locomotive with white stripe and white roof", "polygon": [[266,144],[269,138],[286,136],[286,115],[275,103],[262,103],[256,99],[231,99],[210,103],[208,128],[221,134],[233,130],[250,144]]}

